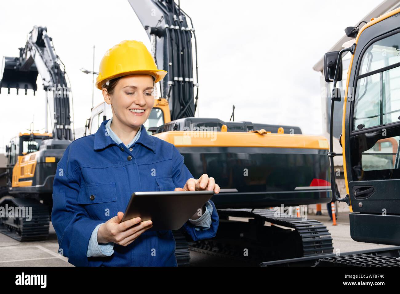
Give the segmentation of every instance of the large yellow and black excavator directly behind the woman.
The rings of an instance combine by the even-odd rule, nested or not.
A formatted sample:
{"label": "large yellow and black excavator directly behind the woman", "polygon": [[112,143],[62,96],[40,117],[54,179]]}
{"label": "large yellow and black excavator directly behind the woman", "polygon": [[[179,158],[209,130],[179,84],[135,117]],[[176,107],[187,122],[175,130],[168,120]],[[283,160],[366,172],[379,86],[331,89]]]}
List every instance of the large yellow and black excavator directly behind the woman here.
{"label": "large yellow and black excavator directly behind the woman", "polygon": [[[276,213],[276,207],[331,201],[326,138],[304,135],[296,126],[236,122],[234,112],[233,121],[195,117],[199,76],[192,19],[173,0],[129,3],[148,34],[157,67],[168,71],[144,127],[174,144],[194,177],[206,173],[221,187],[211,198],[220,217],[217,236],[192,242],[174,231],[178,265],[190,263],[189,250],[257,266],[332,252],[324,224]],[[89,133],[111,116],[105,102],[92,108]]]}

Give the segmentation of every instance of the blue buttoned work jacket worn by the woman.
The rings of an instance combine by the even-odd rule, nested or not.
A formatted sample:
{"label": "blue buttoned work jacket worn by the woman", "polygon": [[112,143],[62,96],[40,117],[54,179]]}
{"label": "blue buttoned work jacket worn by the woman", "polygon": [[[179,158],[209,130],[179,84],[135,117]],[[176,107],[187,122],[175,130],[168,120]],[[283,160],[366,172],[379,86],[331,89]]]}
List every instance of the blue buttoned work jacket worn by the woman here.
{"label": "blue buttoned work jacket worn by the woman", "polygon": [[[52,224],[59,253],[75,266],[177,266],[171,230],[146,231],[128,246],[115,244],[111,256],[86,256],[94,228],[119,211],[125,212],[133,192],[174,191],[193,178],[173,144],[149,135],[142,126],[130,151],[110,138],[107,122],[102,122],[96,134],[73,141],[57,164]],[[208,230],[195,230],[190,221],[182,226],[195,241],[216,235],[219,218],[210,203]]]}

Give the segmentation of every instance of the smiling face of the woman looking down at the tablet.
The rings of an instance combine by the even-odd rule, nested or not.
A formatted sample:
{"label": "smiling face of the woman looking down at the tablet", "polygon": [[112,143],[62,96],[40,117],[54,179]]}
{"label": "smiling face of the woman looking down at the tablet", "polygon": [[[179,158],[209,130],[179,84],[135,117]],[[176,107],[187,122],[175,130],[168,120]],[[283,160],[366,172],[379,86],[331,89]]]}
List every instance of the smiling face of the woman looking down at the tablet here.
{"label": "smiling face of the woman looking down at the tablet", "polygon": [[111,104],[113,116],[127,126],[146,122],[154,106],[153,78],[132,74],[118,80],[112,95],[103,89],[104,101]]}

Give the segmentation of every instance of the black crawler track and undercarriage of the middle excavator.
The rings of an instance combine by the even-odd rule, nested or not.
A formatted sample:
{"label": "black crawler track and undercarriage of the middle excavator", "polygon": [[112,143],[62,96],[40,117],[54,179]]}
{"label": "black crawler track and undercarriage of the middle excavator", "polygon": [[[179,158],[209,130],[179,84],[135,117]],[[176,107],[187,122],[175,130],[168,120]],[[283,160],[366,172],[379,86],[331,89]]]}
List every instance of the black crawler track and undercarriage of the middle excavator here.
{"label": "black crawler track and undercarriage of the middle excavator", "polygon": [[[217,232],[215,238],[191,243],[190,250],[234,258],[253,265],[266,260],[333,252],[332,237],[326,226],[318,220],[276,217],[272,209],[218,209],[218,215],[220,226],[223,227],[218,232],[232,233],[221,235]],[[248,223],[237,222],[229,220],[229,217],[252,220]],[[271,226],[264,226],[265,222],[270,222]],[[244,249],[248,250],[248,255],[243,254]]]}

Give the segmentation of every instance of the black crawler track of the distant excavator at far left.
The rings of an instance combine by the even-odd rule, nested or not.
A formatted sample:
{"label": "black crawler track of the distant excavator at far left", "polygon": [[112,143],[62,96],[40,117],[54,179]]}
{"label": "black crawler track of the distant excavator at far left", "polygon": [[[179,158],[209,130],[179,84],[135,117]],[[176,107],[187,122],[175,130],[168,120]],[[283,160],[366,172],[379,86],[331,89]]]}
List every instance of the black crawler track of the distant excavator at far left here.
{"label": "black crawler track of the distant excavator at far left", "polygon": [[0,199],[0,207],[6,213],[10,207],[14,207],[14,211],[17,211],[16,208],[26,208],[25,217],[0,217],[0,233],[20,242],[45,240],[48,237],[50,215],[46,205],[34,199],[5,196]]}

